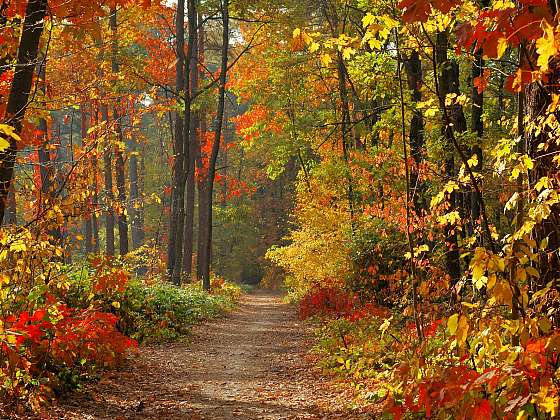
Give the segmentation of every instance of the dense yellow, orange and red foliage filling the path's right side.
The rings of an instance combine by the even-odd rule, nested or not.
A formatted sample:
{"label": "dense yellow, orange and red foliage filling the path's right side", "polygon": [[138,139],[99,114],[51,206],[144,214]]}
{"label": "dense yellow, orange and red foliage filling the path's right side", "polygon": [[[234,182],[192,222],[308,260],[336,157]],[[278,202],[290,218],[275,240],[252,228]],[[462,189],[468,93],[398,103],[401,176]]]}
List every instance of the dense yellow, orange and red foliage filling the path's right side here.
{"label": "dense yellow, orange and red foliage filling the path's right side", "polygon": [[267,257],[323,366],[377,415],[556,418],[556,4],[282,3],[240,134],[299,166]]}

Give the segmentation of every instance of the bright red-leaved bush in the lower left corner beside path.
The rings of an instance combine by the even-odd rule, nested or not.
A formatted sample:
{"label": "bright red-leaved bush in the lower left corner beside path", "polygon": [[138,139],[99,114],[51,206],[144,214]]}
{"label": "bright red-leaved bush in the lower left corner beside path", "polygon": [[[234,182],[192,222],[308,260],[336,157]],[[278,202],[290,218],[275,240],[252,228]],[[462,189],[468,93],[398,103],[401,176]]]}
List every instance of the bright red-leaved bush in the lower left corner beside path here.
{"label": "bright red-leaved bush in the lower left corner beside path", "polygon": [[61,303],[1,318],[2,400],[38,407],[65,385],[61,375],[115,366],[137,347],[116,323],[113,314]]}

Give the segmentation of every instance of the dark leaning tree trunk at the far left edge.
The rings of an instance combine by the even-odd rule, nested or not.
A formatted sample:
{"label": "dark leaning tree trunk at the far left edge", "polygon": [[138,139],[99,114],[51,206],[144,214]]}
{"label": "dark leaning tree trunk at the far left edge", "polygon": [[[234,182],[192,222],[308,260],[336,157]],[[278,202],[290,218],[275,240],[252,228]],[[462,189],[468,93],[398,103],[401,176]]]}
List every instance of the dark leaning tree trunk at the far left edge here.
{"label": "dark leaning tree trunk at the far left edge", "polygon": [[[39,41],[43,33],[43,19],[47,11],[47,0],[29,0],[25,9],[23,30],[19,41],[16,68],[6,105],[4,122],[21,134],[23,117],[31,93],[33,73],[39,52]],[[8,139],[10,146],[0,152],[0,220],[4,220],[6,199],[12,185],[17,143]]]}

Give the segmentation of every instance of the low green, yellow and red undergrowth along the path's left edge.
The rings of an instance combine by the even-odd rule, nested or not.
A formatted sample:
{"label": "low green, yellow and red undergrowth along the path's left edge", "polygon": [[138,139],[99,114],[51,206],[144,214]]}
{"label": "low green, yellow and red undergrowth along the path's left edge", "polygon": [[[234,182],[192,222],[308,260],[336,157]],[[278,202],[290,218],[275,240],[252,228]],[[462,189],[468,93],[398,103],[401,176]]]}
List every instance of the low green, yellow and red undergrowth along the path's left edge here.
{"label": "low green, yellow and red undergrowth along the path's left edge", "polygon": [[[44,265],[25,265],[39,250]],[[67,265],[49,261],[50,253],[60,249],[28,236],[2,256],[4,264],[17,260],[24,271],[16,267],[0,288],[0,412],[39,410],[99,369],[123,362],[138,342],[177,339],[223,314],[241,292],[218,278],[212,294],[157,278],[140,281],[109,259]]]}

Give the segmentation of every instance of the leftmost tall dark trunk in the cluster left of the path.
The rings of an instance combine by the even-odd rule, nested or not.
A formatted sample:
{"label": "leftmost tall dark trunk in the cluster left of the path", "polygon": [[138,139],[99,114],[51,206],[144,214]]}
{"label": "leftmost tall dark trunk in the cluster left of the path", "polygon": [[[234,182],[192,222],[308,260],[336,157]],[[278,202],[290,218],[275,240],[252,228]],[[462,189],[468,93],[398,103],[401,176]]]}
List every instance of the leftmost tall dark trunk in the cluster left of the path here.
{"label": "leftmost tall dark trunk in the cluster left of the path", "polygon": [[[175,17],[175,38],[177,63],[175,64],[176,80],[175,92],[179,99],[185,90],[185,0],[177,1]],[[186,98],[183,97],[183,104]],[[171,212],[169,217],[169,243],[167,248],[167,271],[172,281],[176,266],[177,225],[183,202],[180,198],[181,180],[183,179],[183,115],[178,109],[175,113],[175,138],[173,147],[173,188],[171,195]],[[181,235],[183,232],[181,231]],[[182,250],[181,250],[182,251]]]}

